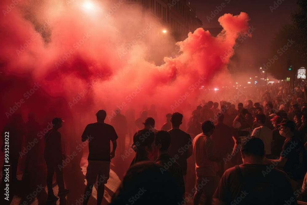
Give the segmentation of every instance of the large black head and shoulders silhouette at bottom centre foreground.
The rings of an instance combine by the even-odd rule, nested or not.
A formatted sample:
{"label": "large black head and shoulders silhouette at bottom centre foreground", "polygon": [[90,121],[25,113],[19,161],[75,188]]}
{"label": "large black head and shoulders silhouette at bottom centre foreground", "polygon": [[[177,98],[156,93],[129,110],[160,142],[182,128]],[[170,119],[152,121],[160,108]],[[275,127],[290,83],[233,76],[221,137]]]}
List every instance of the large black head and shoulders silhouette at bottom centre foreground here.
{"label": "large black head and shoulders silhouette at bottom centre foreground", "polygon": [[126,171],[110,205],[181,204],[183,193],[179,184],[171,172],[163,170],[162,165],[154,162],[134,164]]}

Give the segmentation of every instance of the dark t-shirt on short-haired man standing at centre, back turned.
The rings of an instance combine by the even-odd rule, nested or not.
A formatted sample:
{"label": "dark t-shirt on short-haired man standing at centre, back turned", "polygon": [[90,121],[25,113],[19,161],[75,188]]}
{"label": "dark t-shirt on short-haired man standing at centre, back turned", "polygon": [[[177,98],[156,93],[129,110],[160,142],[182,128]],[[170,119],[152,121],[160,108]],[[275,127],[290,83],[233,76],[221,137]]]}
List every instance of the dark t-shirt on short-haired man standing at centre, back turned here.
{"label": "dark t-shirt on short-haired man standing at centre, back turned", "polygon": [[171,129],[168,132],[171,135],[169,155],[174,158],[176,158],[175,155],[178,155],[176,162],[181,166],[183,175],[186,175],[188,148],[192,146],[191,136],[181,129]]}

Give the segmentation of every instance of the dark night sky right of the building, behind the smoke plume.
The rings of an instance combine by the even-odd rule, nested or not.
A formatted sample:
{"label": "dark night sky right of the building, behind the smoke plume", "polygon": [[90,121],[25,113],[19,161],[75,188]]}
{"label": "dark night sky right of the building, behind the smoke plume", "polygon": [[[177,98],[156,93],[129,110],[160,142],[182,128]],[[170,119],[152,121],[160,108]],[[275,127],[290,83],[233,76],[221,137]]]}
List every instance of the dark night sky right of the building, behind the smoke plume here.
{"label": "dark night sky right of the building, behind the smoke plume", "polygon": [[[245,65],[251,69],[258,69],[267,62],[272,38],[282,25],[291,23],[290,14],[298,8],[295,0],[279,0],[278,2],[282,3],[273,12],[270,10],[270,6],[274,5],[272,0],[190,0],[190,2],[196,8],[196,15],[203,22],[203,28],[221,27],[218,18],[225,13],[237,15],[245,12],[249,15],[251,18],[249,24],[254,26],[255,31],[250,39],[240,44],[236,53],[245,59]],[[226,6],[208,22],[207,16],[210,16],[211,11],[216,10],[216,6],[221,6],[222,3]]]}

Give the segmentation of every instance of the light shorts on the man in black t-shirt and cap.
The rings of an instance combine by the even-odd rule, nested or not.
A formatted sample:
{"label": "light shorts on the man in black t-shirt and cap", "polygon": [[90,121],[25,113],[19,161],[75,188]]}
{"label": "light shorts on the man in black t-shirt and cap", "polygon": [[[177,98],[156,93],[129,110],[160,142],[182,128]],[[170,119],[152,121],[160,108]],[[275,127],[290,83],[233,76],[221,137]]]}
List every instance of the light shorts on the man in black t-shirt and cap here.
{"label": "light shorts on the man in black t-shirt and cap", "polygon": [[[110,177],[110,162],[88,161],[85,179],[87,184],[94,184],[98,176],[98,182],[106,184]],[[98,183],[97,182],[97,183]]]}

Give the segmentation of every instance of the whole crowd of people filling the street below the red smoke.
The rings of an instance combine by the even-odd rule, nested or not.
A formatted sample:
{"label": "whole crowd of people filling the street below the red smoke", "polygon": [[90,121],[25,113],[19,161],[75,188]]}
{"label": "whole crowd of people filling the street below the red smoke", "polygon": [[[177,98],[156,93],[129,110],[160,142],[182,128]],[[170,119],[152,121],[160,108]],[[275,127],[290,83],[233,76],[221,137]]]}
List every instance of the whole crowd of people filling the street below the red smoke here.
{"label": "whole crowd of people filling the street below the red smoke", "polygon": [[[186,116],[187,123],[183,113],[165,113],[166,122],[159,128],[155,105],[142,110],[140,118],[133,122],[130,119],[135,113],[131,110],[125,115],[116,110],[110,124],[106,123],[107,112],[99,110],[97,122],[85,127],[80,140],[88,140],[89,148],[84,196],[91,195],[95,183],[100,182],[97,204],[101,204],[110,162],[115,156],[123,156],[129,148],[135,155],[112,197],[112,205],[305,201],[307,98],[304,89],[304,84],[291,89],[286,83],[246,88],[243,93],[250,94],[232,100],[200,101]],[[12,117],[13,121],[2,132],[2,152],[6,150],[5,135],[9,132],[10,139],[14,139],[10,140],[11,178],[19,183],[16,172],[22,137],[25,135],[26,142],[33,142],[40,128],[33,113],[29,114],[27,123],[23,123],[20,114]],[[60,117],[54,118],[52,128],[44,134],[48,201],[58,199],[52,190],[54,172],[58,195],[69,193],[59,166],[65,159],[58,131],[63,122]],[[36,160],[37,147],[26,154],[25,174],[29,172],[30,160]],[[195,166],[189,167],[189,161]],[[3,166],[2,173],[4,169]],[[187,190],[187,183],[193,180],[195,187]],[[2,183],[5,183],[3,178]],[[84,205],[88,199],[84,198]]]}

